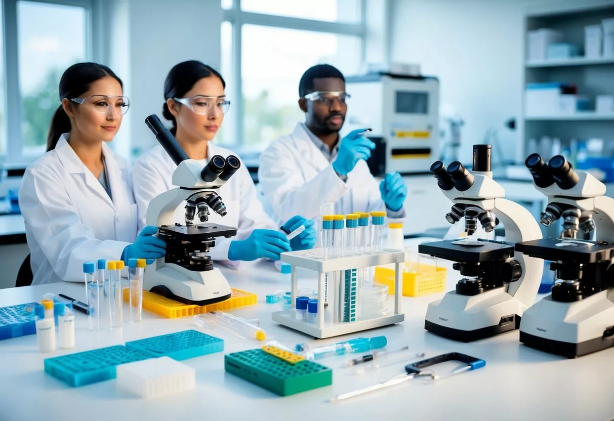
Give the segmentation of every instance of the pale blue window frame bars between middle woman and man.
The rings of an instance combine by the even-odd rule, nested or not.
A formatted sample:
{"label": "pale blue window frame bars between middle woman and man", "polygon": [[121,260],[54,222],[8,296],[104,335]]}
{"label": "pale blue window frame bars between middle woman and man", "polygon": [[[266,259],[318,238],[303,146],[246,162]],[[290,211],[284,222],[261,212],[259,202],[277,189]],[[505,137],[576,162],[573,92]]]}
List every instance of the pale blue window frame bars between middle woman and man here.
{"label": "pale blue window frame bars between middle woman and man", "polygon": [[[220,1],[220,0],[218,0]],[[241,0],[232,0],[230,9],[223,9],[223,22],[231,25],[231,71],[230,82],[233,86],[231,101],[233,104],[231,136],[236,139],[235,145],[243,147],[243,80],[241,79],[241,32],[243,25],[269,26],[273,28],[297,29],[302,31],[321,32],[336,35],[356,36],[360,39],[360,61],[364,63],[367,38],[367,0],[359,0],[360,20],[356,23],[330,22],[311,20],[288,16],[268,15],[241,10]]]}

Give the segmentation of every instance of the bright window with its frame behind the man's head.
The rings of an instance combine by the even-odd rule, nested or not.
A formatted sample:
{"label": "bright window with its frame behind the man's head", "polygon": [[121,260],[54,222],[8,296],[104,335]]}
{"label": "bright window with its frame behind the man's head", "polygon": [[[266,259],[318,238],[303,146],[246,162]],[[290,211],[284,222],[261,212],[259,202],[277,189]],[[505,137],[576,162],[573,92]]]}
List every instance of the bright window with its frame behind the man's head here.
{"label": "bright window with its frame behind the man's head", "polygon": [[[222,74],[232,101],[218,141],[262,150],[292,131],[298,81],[314,64],[359,71],[364,29],[360,0],[221,0]],[[232,92],[232,93],[231,93]]]}

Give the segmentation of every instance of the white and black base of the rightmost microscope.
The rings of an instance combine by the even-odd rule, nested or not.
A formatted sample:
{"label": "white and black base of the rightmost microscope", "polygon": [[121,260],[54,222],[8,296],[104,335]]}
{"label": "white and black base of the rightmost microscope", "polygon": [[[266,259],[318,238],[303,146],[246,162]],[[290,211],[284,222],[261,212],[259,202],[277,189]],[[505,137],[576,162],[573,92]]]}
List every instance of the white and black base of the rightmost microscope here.
{"label": "white and black base of the rightmost microscope", "polygon": [[[608,293],[610,298],[608,298]],[[614,346],[614,288],[573,303],[548,295],[524,312],[520,341],[567,358]]]}

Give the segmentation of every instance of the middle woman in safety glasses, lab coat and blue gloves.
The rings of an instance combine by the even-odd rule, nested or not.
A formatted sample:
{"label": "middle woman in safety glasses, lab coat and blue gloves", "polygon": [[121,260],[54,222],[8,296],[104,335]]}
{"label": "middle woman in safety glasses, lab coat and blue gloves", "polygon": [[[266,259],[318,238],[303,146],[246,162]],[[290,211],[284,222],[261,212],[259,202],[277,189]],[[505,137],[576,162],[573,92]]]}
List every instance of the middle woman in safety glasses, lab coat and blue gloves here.
{"label": "middle woman in safety glasses, lab coat and blue gloves", "polygon": [[[163,115],[173,122],[171,133],[193,160],[210,160],[214,155],[234,155],[211,142],[230,106],[224,93],[225,87],[222,76],[200,61],[179,63],[166,77]],[[149,201],[174,188],[171,179],[176,168],[177,165],[160,145],[134,163],[133,185],[139,206],[139,228],[145,224]],[[273,220],[263,211],[254,182],[244,165],[219,190],[227,215],[220,217],[211,212],[209,222],[236,226],[238,230],[233,239],[216,239],[216,247],[209,252],[212,259],[237,267],[237,261],[258,258],[279,260],[282,252],[310,249],[316,243],[313,222],[300,216],[290,218],[282,230],[293,231],[305,225],[308,229],[303,233],[288,241],[286,235],[278,231]],[[185,220],[182,206],[177,207],[175,220]]]}

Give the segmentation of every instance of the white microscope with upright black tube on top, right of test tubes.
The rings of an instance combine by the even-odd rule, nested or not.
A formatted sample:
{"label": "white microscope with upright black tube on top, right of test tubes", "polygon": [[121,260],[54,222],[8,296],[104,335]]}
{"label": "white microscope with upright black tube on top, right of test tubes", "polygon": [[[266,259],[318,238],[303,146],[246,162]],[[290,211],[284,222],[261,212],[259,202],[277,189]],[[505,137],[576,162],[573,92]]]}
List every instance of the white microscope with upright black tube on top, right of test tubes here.
{"label": "white microscope with upright black tube on top, right of test tubes", "polygon": [[[473,146],[473,171],[459,161],[446,169],[437,161],[430,171],[454,205],[450,223],[465,217],[467,238],[429,242],[420,253],[454,261],[464,276],[454,291],[429,304],[424,328],[456,341],[471,342],[518,329],[523,312],[534,303],[542,279],[541,260],[515,253],[514,243],[542,238],[538,223],[524,207],[504,199],[492,179],[491,145]],[[478,223],[492,232],[500,220],[507,242],[479,239]]]}

